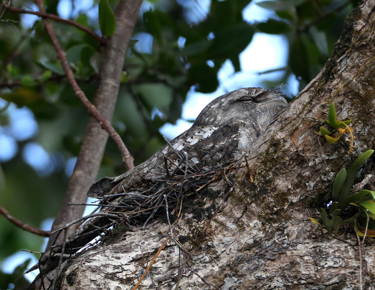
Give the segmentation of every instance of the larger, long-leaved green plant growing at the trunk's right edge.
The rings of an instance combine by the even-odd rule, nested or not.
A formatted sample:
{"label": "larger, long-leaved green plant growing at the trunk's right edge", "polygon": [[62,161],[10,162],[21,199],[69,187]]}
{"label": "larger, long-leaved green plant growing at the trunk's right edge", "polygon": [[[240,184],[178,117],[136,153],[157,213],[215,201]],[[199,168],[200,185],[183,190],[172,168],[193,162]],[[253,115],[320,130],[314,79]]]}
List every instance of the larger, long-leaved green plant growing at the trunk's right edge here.
{"label": "larger, long-leaved green plant growing at the trunk's right edge", "polygon": [[[356,221],[360,215],[365,215],[367,222],[369,222],[369,219],[373,219],[375,222],[375,191],[362,189],[355,194],[350,194],[357,173],[372,153],[374,153],[374,150],[367,150],[350,165],[348,170],[343,168],[336,174],[332,186],[332,203],[329,206],[329,212],[327,213],[323,208],[320,209],[320,218],[328,231],[333,229],[337,233],[339,227],[348,222]],[[341,214],[349,206],[353,206],[359,209],[359,211],[349,219],[342,221]],[[310,219],[312,222],[318,224],[323,232],[321,224],[314,218]],[[361,232],[358,226],[357,230]]]}

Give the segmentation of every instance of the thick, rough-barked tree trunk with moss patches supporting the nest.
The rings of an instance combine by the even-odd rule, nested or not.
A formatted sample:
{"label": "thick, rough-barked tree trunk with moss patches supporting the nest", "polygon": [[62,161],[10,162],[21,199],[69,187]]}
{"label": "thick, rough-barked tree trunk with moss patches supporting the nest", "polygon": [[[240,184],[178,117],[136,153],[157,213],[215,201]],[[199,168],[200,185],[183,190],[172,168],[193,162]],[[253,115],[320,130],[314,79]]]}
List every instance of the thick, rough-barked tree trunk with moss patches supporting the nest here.
{"label": "thick, rough-barked tree trunk with moss patches supporting the nest", "polygon": [[[375,289],[374,242],[366,240],[361,261],[353,232],[322,235],[308,219],[318,218],[335,174],[374,147],[374,6],[348,16],[320,74],[249,150],[248,166],[231,171],[233,186],[222,179],[183,203],[175,236],[186,252],[170,239],[138,289],[360,289],[360,263],[362,288]],[[352,153],[345,138],[328,144],[314,133],[332,101],[354,120]],[[132,289],[169,226],[117,233],[71,260],[61,288]]]}

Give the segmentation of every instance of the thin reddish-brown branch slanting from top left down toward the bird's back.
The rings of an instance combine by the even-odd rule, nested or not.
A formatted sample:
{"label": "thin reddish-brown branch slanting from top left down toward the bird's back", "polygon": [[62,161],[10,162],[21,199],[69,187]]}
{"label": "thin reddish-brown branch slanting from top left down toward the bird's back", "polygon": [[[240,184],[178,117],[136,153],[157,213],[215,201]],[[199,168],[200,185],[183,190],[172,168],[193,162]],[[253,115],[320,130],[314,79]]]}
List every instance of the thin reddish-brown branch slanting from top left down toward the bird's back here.
{"label": "thin reddish-brown branch slanting from top left down toward the bird's back", "polygon": [[[43,0],[36,0],[36,3],[39,6],[40,12],[45,14]],[[104,128],[108,132],[108,134],[110,134],[110,137],[115,141],[118,149],[120,149],[121,155],[123,156],[123,162],[125,163],[127,170],[134,168],[133,156],[130,154],[129,150],[127,150],[120,136],[112,127],[111,123],[108,122],[108,120],[102,116],[102,114],[89,101],[89,99],[87,99],[85,93],[78,86],[77,81],[74,78],[73,71],[69,67],[68,61],[66,60],[65,52],[62,50],[60,43],[58,42],[57,37],[55,35],[55,32],[52,29],[51,23],[49,23],[47,18],[43,18],[43,23],[45,25],[45,29],[49,35],[49,38],[51,38],[52,44],[54,45],[57,51],[57,57],[58,59],[60,59],[61,66],[64,69],[66,77],[68,78],[68,81],[71,84],[75,95],[81,100],[81,102],[83,102],[83,104],[89,111],[89,114],[92,115],[99,122],[102,128]]]}

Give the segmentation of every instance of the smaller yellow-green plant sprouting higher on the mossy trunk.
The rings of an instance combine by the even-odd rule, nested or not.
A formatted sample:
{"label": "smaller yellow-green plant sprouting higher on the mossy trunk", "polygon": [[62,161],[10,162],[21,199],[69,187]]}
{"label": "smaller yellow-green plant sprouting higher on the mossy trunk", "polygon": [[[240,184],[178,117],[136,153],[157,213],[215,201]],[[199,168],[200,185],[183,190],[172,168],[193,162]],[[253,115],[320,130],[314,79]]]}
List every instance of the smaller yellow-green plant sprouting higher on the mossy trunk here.
{"label": "smaller yellow-green plant sprouting higher on the mossy trunk", "polygon": [[324,128],[323,126],[320,126],[320,132],[314,131],[318,135],[323,135],[324,138],[326,138],[326,141],[330,144],[335,143],[340,139],[342,135],[345,133],[350,134],[350,149],[349,153],[351,153],[354,149],[354,136],[353,136],[353,129],[349,127],[348,125],[352,122],[351,120],[337,120],[337,115],[336,115],[336,108],[335,104],[332,102],[331,105],[329,106],[328,110],[328,119],[324,120],[330,127],[335,129],[335,131],[329,131],[328,129]]}

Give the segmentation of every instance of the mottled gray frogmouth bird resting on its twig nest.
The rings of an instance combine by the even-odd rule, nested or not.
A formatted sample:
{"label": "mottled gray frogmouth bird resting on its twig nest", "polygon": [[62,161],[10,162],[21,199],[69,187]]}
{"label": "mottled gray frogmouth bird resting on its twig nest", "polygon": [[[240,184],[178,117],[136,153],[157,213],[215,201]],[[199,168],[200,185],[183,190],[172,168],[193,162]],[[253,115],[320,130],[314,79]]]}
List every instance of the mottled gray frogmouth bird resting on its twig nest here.
{"label": "mottled gray frogmouth bird resting on its twig nest", "polygon": [[[225,159],[239,157],[248,150],[287,105],[279,89],[244,88],[227,93],[208,104],[193,126],[171,141],[175,150],[199,169],[210,168]],[[242,151],[241,151],[242,150]],[[165,145],[142,164],[117,177],[105,177],[94,183],[87,195],[99,197],[138,190],[146,179],[165,174],[164,157],[177,156]]]}

